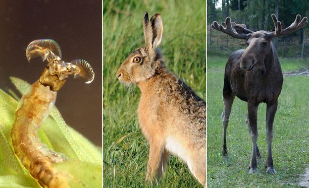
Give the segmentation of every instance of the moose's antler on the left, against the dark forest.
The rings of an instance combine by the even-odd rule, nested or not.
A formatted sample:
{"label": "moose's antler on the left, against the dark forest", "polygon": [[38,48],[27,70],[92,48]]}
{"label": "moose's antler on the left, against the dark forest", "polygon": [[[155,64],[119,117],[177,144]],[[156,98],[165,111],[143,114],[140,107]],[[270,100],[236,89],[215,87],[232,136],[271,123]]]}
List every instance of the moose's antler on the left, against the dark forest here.
{"label": "moose's antler on the left, against the dark forest", "polygon": [[244,24],[236,24],[235,22],[231,22],[230,17],[226,17],[225,22],[222,22],[221,25],[219,25],[217,21],[214,21],[212,24],[212,28],[218,31],[226,33],[234,38],[246,39],[248,34],[237,33],[234,29],[235,26],[245,28]]}

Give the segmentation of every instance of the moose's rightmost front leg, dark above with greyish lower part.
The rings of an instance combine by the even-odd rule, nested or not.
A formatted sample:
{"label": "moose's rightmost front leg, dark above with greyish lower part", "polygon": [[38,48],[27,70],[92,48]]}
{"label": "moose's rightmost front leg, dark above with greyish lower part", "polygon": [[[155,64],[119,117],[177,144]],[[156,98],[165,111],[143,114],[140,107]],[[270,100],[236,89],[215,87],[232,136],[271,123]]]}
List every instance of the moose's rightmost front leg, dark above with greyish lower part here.
{"label": "moose's rightmost front leg, dark above with greyish lower part", "polygon": [[267,173],[277,173],[274,164],[273,164],[273,157],[272,157],[272,141],[273,141],[273,123],[275,114],[277,111],[278,101],[274,103],[268,103],[266,108],[266,137],[267,137],[267,161],[266,167]]}

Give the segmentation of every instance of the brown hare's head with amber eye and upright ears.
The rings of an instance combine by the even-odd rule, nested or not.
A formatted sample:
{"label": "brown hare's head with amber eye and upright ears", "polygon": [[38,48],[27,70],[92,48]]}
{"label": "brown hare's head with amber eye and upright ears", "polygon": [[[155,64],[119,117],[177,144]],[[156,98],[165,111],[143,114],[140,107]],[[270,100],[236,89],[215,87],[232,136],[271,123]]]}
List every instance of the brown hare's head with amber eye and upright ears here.
{"label": "brown hare's head with amber eye and upright ears", "polygon": [[161,53],[157,49],[161,43],[163,22],[160,14],[148,19],[148,13],[143,16],[145,47],[135,49],[122,63],[117,71],[117,78],[124,83],[138,83],[152,77],[161,62]]}

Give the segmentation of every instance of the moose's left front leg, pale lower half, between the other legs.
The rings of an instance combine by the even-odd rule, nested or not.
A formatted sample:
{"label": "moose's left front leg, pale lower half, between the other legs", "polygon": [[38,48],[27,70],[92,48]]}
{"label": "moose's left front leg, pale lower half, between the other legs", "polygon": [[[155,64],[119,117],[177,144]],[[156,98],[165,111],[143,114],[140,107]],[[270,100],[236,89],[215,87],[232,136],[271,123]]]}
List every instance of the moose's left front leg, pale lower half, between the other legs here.
{"label": "moose's left front leg, pale lower half, between the other legs", "polygon": [[248,101],[248,118],[249,118],[249,126],[250,126],[250,135],[252,140],[252,157],[250,162],[250,171],[249,173],[258,172],[257,164],[256,164],[256,141],[258,141],[258,124],[257,124],[257,116],[258,116],[258,105],[252,104]]}

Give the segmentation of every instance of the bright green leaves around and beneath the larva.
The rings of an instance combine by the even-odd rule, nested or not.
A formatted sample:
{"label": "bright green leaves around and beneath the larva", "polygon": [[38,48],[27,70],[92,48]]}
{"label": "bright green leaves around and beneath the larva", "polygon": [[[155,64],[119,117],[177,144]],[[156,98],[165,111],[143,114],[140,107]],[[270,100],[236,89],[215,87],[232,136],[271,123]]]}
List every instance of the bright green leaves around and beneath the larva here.
{"label": "bright green leaves around and beneath the larva", "polygon": [[[31,87],[18,78],[11,77],[11,80],[22,94]],[[11,144],[10,132],[17,106],[18,101],[0,89],[0,187],[40,187],[21,165]],[[38,135],[48,148],[70,158],[71,161],[55,166],[70,175],[72,187],[101,186],[101,148],[70,128],[56,107],[43,122]]]}

